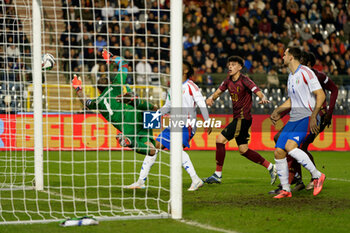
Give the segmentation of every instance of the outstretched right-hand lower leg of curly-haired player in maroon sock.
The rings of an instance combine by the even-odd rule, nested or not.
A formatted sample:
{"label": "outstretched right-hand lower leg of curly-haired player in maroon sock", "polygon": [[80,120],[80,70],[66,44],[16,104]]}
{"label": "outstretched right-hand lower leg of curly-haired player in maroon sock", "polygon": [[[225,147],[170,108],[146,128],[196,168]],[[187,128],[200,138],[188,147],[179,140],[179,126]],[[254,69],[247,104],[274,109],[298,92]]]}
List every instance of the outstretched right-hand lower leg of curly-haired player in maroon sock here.
{"label": "outstretched right-hand lower leg of curly-haired player in maroon sock", "polygon": [[274,164],[267,161],[258,152],[249,149],[248,144],[239,145],[238,149],[241,155],[243,155],[244,157],[246,157],[247,159],[249,159],[254,163],[264,166],[269,171],[269,174],[271,177],[271,185],[273,185],[276,182],[277,170]]}

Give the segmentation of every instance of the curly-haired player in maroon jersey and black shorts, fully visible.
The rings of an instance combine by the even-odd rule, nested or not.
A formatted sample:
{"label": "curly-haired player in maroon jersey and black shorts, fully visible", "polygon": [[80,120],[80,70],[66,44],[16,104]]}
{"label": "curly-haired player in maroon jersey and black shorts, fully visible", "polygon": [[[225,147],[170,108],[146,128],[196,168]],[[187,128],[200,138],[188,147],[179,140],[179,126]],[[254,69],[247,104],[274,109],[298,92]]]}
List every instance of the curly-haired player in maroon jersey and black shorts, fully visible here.
{"label": "curly-haired player in maroon jersey and black shorts, fully visible", "polygon": [[215,173],[204,179],[208,184],[221,183],[222,167],[225,160],[225,144],[232,140],[236,140],[238,150],[241,155],[247,159],[260,164],[268,169],[271,176],[271,184],[276,181],[277,172],[275,165],[264,159],[259,153],[248,148],[249,128],[252,124],[252,93],[259,98],[259,104],[269,103],[265,95],[260,91],[259,87],[248,78],[241,74],[244,66],[244,60],[238,56],[228,58],[227,67],[229,69],[227,78],[221,83],[220,87],[207,99],[207,105],[212,106],[214,101],[226,90],[230,92],[232,100],[233,120],[219,134],[216,139],[216,170]]}

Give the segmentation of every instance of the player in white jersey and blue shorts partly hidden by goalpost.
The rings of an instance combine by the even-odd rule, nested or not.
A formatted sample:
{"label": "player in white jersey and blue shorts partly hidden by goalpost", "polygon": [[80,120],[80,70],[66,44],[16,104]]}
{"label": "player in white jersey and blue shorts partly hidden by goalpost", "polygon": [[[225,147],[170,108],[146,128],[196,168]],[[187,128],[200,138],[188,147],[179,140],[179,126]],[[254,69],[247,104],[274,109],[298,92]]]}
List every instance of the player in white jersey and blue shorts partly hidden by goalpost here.
{"label": "player in white jersey and blue shorts partly hidden by goalpost", "polygon": [[[182,127],[182,144],[183,147],[190,147],[190,141],[196,132],[196,119],[197,112],[196,107],[198,106],[201,110],[202,116],[205,121],[209,120],[209,113],[207,106],[205,104],[204,97],[200,92],[199,88],[195,83],[193,83],[189,78],[193,75],[193,69],[188,62],[183,64],[183,76],[182,76],[182,109],[181,117],[177,118],[179,121],[191,122],[190,125],[185,125]],[[165,105],[159,110],[159,114],[164,115],[170,113],[171,110],[171,96],[168,93]],[[174,120],[174,119],[170,119]],[[194,123],[194,124],[193,124]],[[211,132],[211,128],[208,129],[208,133]],[[170,150],[170,128],[165,128],[156,139],[156,148]],[[145,188],[145,181],[147,179],[148,173],[154,164],[157,156],[146,156],[142,168],[140,171],[140,176],[137,182],[125,186],[128,189],[142,189]],[[190,175],[192,179],[192,184],[188,191],[196,191],[203,185],[203,181],[198,177],[191,159],[186,151],[182,151],[182,166],[185,168],[186,172]]]}

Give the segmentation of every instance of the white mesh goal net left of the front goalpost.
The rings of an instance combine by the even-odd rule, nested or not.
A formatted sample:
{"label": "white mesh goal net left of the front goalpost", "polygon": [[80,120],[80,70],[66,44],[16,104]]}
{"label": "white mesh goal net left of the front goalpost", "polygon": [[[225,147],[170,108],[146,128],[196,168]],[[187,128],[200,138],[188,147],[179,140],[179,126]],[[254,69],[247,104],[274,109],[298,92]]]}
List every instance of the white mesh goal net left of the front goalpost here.
{"label": "white mesh goal net left of the front goalpost", "polygon": [[[137,181],[144,155],[122,147],[112,119],[85,108],[71,86],[76,74],[85,96],[96,99],[98,80],[113,82],[118,65],[106,64],[106,49],[128,63],[122,88],[128,85],[139,99],[162,106],[170,83],[169,1],[42,0],[41,42],[33,35],[31,0],[0,4],[0,224],[169,217],[169,152],[158,153],[145,189],[124,188]],[[55,57],[41,77],[42,139],[34,138],[33,111],[40,103],[34,66],[41,62],[32,58],[35,45]],[[155,137],[159,130],[151,133]],[[42,178],[35,177],[40,140]]]}

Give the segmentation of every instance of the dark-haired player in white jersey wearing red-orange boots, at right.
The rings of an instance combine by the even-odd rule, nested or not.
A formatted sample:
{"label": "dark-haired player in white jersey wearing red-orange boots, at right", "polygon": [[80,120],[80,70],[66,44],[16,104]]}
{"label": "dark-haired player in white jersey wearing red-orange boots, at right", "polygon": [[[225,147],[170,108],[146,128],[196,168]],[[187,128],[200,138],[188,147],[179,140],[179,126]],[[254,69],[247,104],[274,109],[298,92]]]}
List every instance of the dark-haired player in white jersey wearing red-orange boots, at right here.
{"label": "dark-haired player in white jersey wearing red-orange boots, at right", "polygon": [[290,120],[275,146],[276,168],[282,190],[274,198],[292,196],[288,182],[287,153],[312,174],[315,196],[321,192],[325,180],[325,175],[318,171],[308,155],[298,148],[310,130],[314,134],[318,133],[317,115],[326,98],[316,75],[308,67],[300,64],[300,58],[299,48],[292,47],[285,51],[283,62],[291,72],[288,77],[289,99],[271,114],[271,120],[275,124],[281,118],[280,113],[291,109]]}

